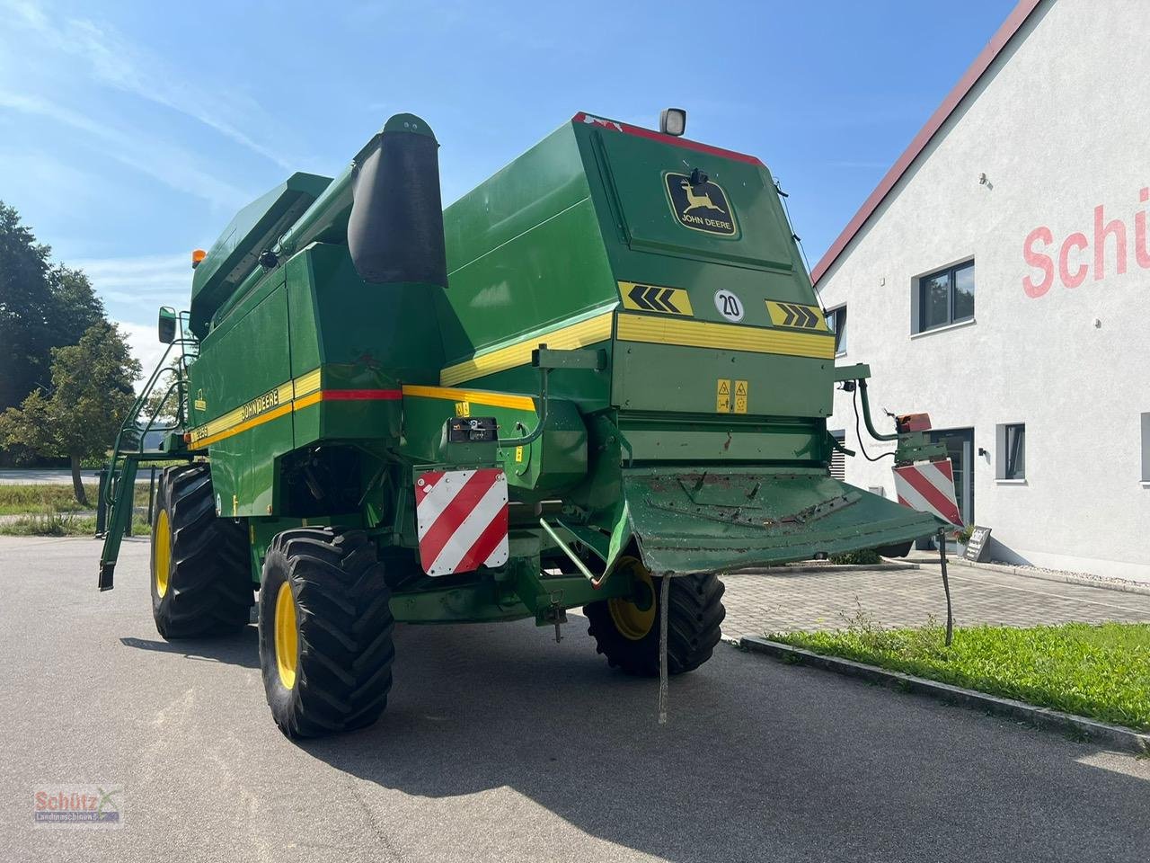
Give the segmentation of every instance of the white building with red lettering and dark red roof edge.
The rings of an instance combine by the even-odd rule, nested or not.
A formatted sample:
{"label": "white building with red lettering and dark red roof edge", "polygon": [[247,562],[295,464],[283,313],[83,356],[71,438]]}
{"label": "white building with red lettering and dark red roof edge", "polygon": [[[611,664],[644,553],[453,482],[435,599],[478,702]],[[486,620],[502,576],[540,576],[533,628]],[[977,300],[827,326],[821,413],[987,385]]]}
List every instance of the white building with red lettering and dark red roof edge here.
{"label": "white building with red lettering and dark red roof edge", "polygon": [[[1148,0],[1019,2],[812,274],[995,559],[1150,581],[1148,46]],[[850,395],[829,427],[859,449]]]}

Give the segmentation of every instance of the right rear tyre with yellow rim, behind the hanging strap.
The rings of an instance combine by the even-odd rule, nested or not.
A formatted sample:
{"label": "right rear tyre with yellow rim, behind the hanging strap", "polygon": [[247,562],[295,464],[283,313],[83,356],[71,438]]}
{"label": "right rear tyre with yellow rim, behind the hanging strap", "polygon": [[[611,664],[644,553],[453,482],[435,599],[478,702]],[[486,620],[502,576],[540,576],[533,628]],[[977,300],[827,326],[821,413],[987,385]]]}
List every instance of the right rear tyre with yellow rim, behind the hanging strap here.
{"label": "right rear tyre with yellow rim, behind the hanging strap", "polygon": [[[611,667],[637,677],[659,674],[659,596],[661,579],[634,557],[619,567],[631,573],[638,585],[634,599],[601,599],[583,606],[588,634]],[[714,574],[681,575],[672,579],[667,604],[667,671],[682,674],[711,658],[719,643],[720,626],[727,614],[722,605],[723,583]]]}

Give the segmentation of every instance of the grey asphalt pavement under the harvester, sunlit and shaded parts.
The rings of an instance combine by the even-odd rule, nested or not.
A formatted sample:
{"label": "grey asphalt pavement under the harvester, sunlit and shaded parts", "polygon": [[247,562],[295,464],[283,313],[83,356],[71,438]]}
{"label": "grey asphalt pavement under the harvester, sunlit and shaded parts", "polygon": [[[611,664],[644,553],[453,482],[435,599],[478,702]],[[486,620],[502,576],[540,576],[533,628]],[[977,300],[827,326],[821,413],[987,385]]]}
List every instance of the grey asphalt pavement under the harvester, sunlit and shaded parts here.
{"label": "grey asphalt pavement under the harvester, sunlit and shaded parts", "polygon": [[[1145,861],[1150,762],[720,644],[670,685],[573,616],[400,627],[374,727],[292,743],[255,629],[168,643],[147,542],[0,537],[6,861]],[[114,789],[118,828],[33,827]]]}

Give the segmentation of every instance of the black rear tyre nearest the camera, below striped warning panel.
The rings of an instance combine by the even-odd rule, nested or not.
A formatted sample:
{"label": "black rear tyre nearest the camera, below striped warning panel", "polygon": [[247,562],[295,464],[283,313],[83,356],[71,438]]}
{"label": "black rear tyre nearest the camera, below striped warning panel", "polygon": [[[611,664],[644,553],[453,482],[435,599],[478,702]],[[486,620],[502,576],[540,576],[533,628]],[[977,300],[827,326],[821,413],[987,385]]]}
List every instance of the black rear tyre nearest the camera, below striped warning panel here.
{"label": "black rear tyre nearest the camera, below striped warning panel", "polygon": [[[298,648],[291,687],[276,663],[276,601],[284,582],[294,602]],[[316,738],[379,718],[396,657],[390,603],[383,564],[363,532],[304,527],[271,541],[260,585],[260,667],[268,707],[285,735]]]}

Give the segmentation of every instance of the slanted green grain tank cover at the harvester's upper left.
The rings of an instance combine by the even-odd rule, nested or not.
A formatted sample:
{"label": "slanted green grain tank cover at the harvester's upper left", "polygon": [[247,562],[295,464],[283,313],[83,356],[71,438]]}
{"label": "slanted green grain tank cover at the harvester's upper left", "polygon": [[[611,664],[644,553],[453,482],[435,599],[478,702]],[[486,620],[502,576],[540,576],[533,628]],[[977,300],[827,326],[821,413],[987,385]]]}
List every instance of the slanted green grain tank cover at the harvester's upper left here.
{"label": "slanted green grain tank cover at the harvester's upper left", "polygon": [[231,220],[192,276],[192,331],[201,338],[213,313],[256,266],[275,242],[331,182],[315,174],[292,174]]}

